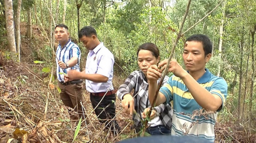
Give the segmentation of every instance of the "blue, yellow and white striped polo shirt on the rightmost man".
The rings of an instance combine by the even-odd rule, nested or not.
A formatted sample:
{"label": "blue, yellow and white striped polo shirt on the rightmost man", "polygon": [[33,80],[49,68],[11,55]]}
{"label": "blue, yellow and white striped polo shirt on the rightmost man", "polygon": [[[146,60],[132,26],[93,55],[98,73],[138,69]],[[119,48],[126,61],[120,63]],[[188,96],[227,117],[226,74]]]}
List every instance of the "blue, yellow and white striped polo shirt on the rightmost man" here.
{"label": "blue, yellow and white striped polo shirt on the rightmost man", "polygon": [[[222,99],[222,106],[227,98],[227,82],[221,77],[206,72],[197,81],[211,94],[216,94]],[[173,135],[192,135],[214,142],[214,126],[217,112],[202,115],[205,111],[194,100],[184,82],[176,76],[171,76],[160,92],[166,96],[166,103],[173,101]]]}

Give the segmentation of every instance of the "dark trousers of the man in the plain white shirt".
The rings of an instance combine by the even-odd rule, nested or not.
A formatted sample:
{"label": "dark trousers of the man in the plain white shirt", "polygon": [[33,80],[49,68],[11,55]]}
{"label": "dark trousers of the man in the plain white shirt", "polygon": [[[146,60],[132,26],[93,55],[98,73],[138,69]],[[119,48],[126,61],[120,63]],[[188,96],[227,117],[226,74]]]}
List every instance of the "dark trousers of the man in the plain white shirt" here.
{"label": "dark trousers of the man in the plain white shirt", "polygon": [[[99,120],[101,123],[105,123],[106,127],[111,128],[112,131],[114,130],[120,130],[120,127],[117,123],[117,121],[112,120],[115,116],[115,94],[105,96],[104,99],[101,101],[103,97],[92,95],[90,94],[90,101],[92,102],[93,108],[97,106],[97,108],[94,110],[95,114],[100,119],[109,119],[107,120]],[[101,102],[100,102],[101,101]]]}

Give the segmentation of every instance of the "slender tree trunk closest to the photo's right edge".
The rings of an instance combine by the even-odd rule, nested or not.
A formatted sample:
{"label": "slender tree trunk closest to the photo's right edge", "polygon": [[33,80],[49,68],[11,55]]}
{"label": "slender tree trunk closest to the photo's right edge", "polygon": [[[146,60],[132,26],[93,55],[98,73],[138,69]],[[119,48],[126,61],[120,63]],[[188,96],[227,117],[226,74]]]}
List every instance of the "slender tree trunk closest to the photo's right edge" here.
{"label": "slender tree trunk closest to the photo's right edge", "polygon": [[[251,31],[252,35],[252,76],[251,76],[251,88],[250,88],[250,99],[249,99],[249,126],[251,127],[251,120],[252,120],[252,100],[253,100],[253,83],[254,83],[254,73],[255,73],[255,68],[254,68],[254,34],[256,30],[256,25],[254,27],[254,30]],[[250,128],[251,132],[251,128]]]}

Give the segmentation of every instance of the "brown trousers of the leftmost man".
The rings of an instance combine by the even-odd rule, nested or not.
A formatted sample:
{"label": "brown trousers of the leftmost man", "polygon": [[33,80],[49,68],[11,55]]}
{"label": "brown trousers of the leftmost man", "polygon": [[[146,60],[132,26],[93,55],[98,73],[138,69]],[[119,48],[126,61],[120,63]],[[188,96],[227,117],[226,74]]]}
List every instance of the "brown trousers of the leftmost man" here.
{"label": "brown trousers of the leftmost man", "polygon": [[[78,112],[79,118],[83,115],[81,100],[82,100],[82,83],[75,83],[73,85],[62,85],[61,82],[58,81],[58,86],[60,90],[62,90],[59,94],[60,99],[65,106],[70,108],[75,108],[75,111]],[[71,119],[78,119],[74,116],[70,116]],[[83,118],[83,117],[82,117]]]}

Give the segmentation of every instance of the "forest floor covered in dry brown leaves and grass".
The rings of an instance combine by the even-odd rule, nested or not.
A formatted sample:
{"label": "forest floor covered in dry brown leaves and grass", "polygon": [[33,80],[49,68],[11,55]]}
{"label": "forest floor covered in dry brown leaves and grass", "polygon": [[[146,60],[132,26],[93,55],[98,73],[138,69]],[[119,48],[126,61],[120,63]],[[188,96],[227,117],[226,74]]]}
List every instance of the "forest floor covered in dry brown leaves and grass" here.
{"label": "forest floor covered in dry brown leaves and grass", "polygon": [[[25,35],[26,25],[21,28]],[[38,43],[45,43],[41,30],[33,27],[34,38]],[[37,43],[37,44],[38,44]],[[57,91],[57,82],[50,86],[44,82],[41,69],[47,64],[35,64],[32,57],[31,41],[22,38],[21,63],[6,58],[0,51],[3,66],[0,68],[0,143],[5,142],[72,142],[76,134],[78,120],[69,119],[68,109],[63,105]],[[115,74],[114,88],[123,83],[124,77]],[[48,100],[47,100],[48,99]],[[82,126],[74,142],[117,142],[125,138],[136,137],[130,129],[131,116],[124,112],[120,100],[115,102],[116,120],[121,126],[121,133],[114,135],[103,128],[96,119],[90,103],[89,94],[83,88],[84,112],[89,123]],[[76,114],[74,112],[74,114]],[[255,134],[230,122],[218,122],[215,125],[215,142],[255,142]]]}

